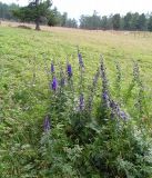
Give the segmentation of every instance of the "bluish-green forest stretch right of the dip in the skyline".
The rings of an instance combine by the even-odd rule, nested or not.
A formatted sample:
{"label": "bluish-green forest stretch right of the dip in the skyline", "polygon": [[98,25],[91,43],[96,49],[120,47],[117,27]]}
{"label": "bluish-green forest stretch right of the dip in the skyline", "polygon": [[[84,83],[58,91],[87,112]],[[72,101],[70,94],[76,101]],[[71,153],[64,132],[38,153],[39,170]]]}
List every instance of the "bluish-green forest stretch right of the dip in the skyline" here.
{"label": "bluish-green forest stretch right of the dip in the skyline", "polygon": [[111,16],[98,16],[94,11],[92,16],[81,16],[80,28],[82,29],[102,29],[102,30],[140,30],[152,31],[152,13],[144,14],[139,12],[128,12],[125,16],[120,13]]}

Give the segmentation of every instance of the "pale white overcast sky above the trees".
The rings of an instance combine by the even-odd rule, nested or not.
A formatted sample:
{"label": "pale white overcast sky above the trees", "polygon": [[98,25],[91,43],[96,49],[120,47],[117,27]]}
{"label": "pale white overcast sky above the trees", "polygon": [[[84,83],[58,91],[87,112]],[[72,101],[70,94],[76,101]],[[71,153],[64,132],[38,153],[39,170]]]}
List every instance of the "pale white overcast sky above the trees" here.
{"label": "pale white overcast sky above the trees", "polygon": [[[27,6],[29,0],[0,0],[6,3],[16,2]],[[79,19],[81,14],[92,14],[97,10],[99,14],[131,12],[152,12],[152,0],[53,0],[53,6],[60,12],[67,11],[70,18]]]}

